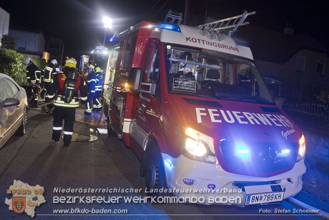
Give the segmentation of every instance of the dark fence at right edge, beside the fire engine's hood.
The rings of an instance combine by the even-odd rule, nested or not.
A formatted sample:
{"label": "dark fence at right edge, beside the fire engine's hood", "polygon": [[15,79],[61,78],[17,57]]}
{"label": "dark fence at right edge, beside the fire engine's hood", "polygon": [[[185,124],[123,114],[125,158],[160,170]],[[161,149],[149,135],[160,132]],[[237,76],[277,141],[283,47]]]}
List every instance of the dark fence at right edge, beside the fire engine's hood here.
{"label": "dark fence at right edge, beside the fire engine's hood", "polygon": [[329,136],[329,104],[285,102],[282,110],[299,127]]}

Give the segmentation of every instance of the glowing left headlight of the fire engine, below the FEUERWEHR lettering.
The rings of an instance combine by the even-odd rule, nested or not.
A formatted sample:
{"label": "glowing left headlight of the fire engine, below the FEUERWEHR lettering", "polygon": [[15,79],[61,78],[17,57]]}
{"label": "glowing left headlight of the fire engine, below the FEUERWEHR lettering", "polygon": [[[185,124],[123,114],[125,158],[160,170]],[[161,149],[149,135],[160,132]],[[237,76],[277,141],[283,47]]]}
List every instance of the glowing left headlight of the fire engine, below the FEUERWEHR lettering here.
{"label": "glowing left headlight of the fire engine, below the FEUERWEHR lettering", "polygon": [[182,153],[189,159],[211,164],[218,164],[214,139],[192,128],[176,127]]}

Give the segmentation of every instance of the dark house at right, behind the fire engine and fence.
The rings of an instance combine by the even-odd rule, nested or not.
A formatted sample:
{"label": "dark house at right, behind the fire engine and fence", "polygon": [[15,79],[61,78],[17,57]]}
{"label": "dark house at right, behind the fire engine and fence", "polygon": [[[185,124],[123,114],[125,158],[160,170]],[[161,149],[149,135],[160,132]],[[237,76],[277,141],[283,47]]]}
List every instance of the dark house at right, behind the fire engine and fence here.
{"label": "dark house at right, behind the fire engine and fence", "polygon": [[286,96],[281,82],[289,74],[329,76],[329,48],[308,33],[294,33],[290,27],[278,32],[247,25],[239,27],[234,38],[244,39],[251,48],[274,96]]}

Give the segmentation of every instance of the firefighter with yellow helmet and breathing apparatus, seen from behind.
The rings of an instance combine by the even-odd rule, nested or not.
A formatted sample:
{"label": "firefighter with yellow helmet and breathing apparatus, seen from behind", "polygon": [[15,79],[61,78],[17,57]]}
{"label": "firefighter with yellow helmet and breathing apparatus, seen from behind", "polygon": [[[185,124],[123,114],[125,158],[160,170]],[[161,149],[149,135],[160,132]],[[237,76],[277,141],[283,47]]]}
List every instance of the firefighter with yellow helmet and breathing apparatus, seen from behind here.
{"label": "firefighter with yellow helmet and breathing apparatus, seen from behind", "polygon": [[54,75],[48,90],[49,100],[54,99],[52,140],[59,141],[64,119],[64,146],[69,146],[73,134],[75,110],[79,107],[78,90],[81,104],[87,101],[87,85],[85,80],[76,72],[77,61],[68,58],[62,72]]}

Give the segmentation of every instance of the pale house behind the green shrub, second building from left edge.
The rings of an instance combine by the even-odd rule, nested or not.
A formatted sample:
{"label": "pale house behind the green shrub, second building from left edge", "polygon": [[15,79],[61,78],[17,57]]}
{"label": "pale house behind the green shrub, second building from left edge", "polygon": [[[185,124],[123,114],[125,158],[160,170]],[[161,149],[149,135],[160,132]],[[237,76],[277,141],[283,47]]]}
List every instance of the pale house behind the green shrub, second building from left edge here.
{"label": "pale house behind the green shrub, second building from left edge", "polygon": [[46,43],[46,38],[42,31],[26,28],[10,28],[9,36],[14,39],[15,51],[36,58],[42,58]]}

